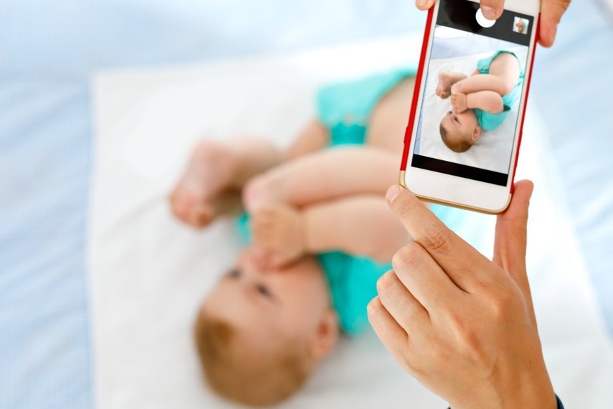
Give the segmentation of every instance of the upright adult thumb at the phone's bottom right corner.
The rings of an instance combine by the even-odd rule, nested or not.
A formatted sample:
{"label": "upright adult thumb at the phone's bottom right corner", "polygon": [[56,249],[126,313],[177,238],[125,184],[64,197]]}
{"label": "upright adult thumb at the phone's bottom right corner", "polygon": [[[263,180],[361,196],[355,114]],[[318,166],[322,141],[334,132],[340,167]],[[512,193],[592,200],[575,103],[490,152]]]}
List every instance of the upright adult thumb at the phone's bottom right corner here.
{"label": "upright adult thumb at the phone's bottom right corner", "polygon": [[526,275],[528,206],[534,185],[531,181],[515,183],[508,209],[496,220],[494,263],[513,277],[525,294],[529,294]]}

